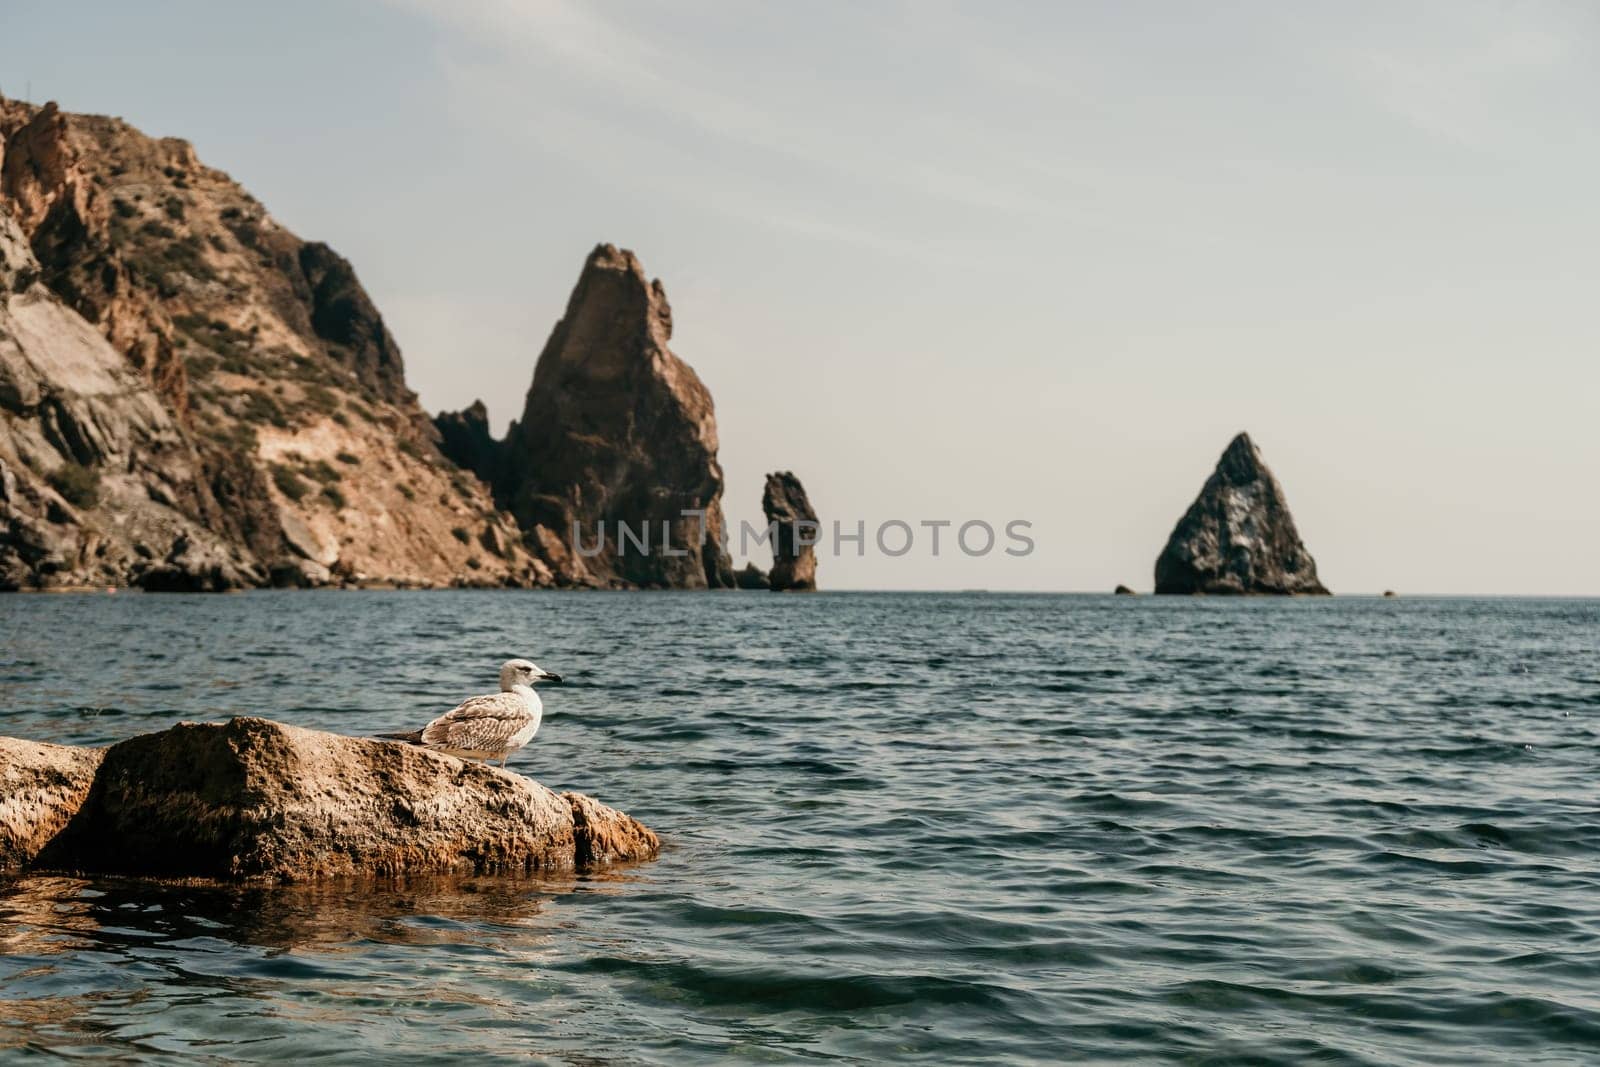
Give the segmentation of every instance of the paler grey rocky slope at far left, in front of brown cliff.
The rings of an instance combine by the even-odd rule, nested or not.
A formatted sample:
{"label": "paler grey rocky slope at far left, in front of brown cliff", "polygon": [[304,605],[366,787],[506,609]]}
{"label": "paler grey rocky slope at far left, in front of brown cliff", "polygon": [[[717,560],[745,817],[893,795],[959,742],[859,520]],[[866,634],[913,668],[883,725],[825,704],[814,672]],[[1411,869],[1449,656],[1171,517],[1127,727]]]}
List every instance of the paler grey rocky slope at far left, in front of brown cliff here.
{"label": "paler grey rocky slope at far left, in front of brown cliff", "polygon": [[261,584],[206,522],[227,515],[206,467],[221,454],[42,274],[0,203],[0,589]]}

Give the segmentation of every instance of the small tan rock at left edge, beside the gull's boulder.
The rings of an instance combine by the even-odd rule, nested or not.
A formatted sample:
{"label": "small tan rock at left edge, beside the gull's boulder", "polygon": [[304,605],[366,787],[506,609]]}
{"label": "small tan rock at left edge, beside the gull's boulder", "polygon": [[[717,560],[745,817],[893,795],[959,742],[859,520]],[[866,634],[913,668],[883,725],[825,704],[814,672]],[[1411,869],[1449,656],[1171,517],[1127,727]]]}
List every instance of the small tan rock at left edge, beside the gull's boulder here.
{"label": "small tan rock at left edge, beside the gull's boulder", "polygon": [[77,814],[104,749],[0,737],[0,872],[34,857]]}

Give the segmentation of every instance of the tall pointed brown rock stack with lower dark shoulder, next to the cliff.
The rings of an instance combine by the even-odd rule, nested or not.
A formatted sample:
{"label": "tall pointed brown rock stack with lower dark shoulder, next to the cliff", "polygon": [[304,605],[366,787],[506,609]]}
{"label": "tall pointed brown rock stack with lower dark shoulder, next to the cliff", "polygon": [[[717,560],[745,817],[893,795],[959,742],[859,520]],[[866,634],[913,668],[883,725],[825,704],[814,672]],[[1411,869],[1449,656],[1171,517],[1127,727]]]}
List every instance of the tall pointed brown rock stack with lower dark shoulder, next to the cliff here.
{"label": "tall pointed brown rock stack with lower dark shoulder, next to the cliff", "polygon": [[446,454],[493,482],[560,584],[733,585],[710,392],[670,338],[661,282],[600,245],[506,440],[490,442],[477,405],[437,421]]}

